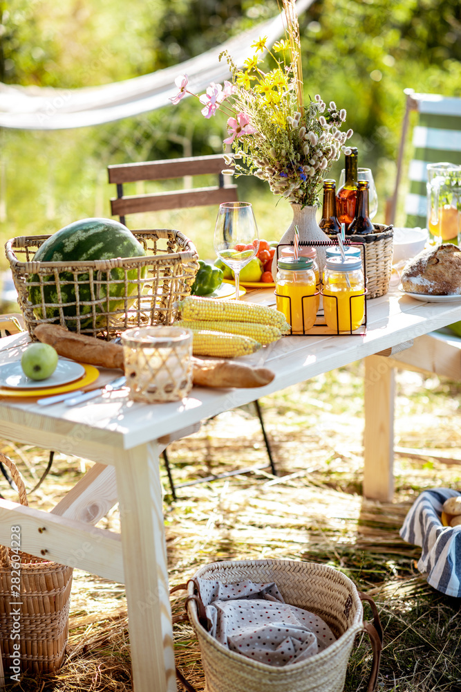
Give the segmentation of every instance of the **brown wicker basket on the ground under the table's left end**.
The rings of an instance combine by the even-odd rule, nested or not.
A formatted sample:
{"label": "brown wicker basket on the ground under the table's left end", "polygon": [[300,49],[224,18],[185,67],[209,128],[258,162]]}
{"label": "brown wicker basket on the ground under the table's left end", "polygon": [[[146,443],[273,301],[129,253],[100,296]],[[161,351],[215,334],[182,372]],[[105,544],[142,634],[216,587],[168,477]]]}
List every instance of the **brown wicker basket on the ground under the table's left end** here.
{"label": "brown wicker basket on the ground under the table's left end", "polygon": [[[19,491],[19,502],[27,505],[26,488],[15,464],[3,454],[0,454],[0,462],[10,469]],[[15,533],[13,529],[14,526],[12,534]],[[66,653],[73,570],[23,552],[18,554],[20,567],[17,570],[19,561],[12,556],[11,549],[0,548],[0,646],[4,671],[6,675],[16,673],[18,652],[14,646],[19,642],[21,671],[54,673],[62,665]],[[12,571],[20,572],[20,594],[17,589],[12,590]],[[16,601],[20,601],[21,606],[12,605]],[[12,612],[16,608],[21,609],[20,638],[11,639],[12,632],[17,632],[17,618]]]}

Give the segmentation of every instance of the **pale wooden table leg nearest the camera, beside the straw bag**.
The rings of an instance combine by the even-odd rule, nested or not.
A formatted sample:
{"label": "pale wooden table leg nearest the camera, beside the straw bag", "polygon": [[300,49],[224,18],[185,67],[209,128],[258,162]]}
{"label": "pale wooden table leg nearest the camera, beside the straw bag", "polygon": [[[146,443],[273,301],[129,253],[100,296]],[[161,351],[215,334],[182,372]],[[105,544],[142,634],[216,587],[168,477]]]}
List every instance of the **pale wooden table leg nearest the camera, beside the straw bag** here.
{"label": "pale wooden table leg nearest the camera, beside the straw bag", "polygon": [[158,444],[117,457],[133,689],[176,692]]}

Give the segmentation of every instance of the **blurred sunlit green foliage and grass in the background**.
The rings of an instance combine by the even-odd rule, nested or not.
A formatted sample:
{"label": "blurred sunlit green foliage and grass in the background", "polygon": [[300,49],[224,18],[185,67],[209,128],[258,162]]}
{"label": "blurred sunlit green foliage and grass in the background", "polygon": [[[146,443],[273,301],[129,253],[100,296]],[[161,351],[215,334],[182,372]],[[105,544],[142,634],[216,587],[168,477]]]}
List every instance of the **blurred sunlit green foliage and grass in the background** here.
{"label": "blurred sunlit green foliage and grass in the background", "polygon": [[[0,80],[67,89],[125,80],[203,53],[277,11],[276,0],[0,0]],[[375,222],[383,222],[403,89],[461,93],[461,3],[317,0],[299,21],[305,95],[321,93],[348,111],[350,143],[359,148],[359,165],[373,169]],[[106,182],[107,165],[219,153],[225,121],[223,113],[205,120],[188,98],[98,127],[0,129],[0,241],[109,217],[115,190]],[[329,176],[338,181],[343,163]],[[288,203],[257,179],[238,185],[240,198],[254,203],[261,237],[279,239],[292,218]],[[215,217],[210,209],[164,212],[129,225],[178,228],[200,255],[211,256]]]}

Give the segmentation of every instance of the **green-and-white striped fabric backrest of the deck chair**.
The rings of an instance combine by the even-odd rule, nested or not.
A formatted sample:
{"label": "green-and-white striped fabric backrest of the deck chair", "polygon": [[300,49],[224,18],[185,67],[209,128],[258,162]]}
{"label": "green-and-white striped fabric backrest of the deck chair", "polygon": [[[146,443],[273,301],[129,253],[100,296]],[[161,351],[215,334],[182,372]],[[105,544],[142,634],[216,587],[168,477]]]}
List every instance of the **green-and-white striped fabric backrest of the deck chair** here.
{"label": "green-and-white striped fabric backrest of the deck chair", "polygon": [[390,224],[395,222],[409,116],[411,111],[417,111],[418,122],[413,128],[413,155],[408,169],[410,187],[405,199],[405,226],[424,228],[427,216],[427,164],[446,161],[461,165],[461,98],[444,97],[435,93],[413,93],[412,89],[405,89],[405,93],[406,111],[397,159],[397,176],[387,221]]}

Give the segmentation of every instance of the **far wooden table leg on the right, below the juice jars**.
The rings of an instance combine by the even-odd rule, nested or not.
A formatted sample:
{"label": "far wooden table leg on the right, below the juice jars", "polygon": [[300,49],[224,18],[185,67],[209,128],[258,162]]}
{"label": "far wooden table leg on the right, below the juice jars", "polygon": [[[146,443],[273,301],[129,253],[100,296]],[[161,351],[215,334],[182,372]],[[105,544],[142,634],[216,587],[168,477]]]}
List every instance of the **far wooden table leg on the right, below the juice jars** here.
{"label": "far wooden table leg on the right, below the juice jars", "polygon": [[394,368],[387,358],[365,358],[364,496],[388,502],[394,478]]}

